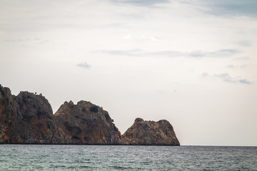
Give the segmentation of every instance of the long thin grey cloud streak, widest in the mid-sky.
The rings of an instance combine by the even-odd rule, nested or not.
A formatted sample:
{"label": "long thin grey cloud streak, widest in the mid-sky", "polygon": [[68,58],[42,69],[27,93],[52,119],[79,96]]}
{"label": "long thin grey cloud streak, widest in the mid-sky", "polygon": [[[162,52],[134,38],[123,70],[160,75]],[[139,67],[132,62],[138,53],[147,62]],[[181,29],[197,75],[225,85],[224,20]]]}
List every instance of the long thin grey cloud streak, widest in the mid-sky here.
{"label": "long thin grey cloud streak, widest in the mid-sky", "polygon": [[155,51],[155,52],[146,52],[141,49],[134,49],[129,51],[96,51],[100,53],[108,53],[110,55],[115,56],[139,56],[139,57],[151,57],[151,56],[162,56],[162,57],[191,57],[191,58],[226,58],[229,56],[233,56],[240,51],[236,49],[221,49],[218,51],[192,51],[189,53],[181,52],[181,51]]}

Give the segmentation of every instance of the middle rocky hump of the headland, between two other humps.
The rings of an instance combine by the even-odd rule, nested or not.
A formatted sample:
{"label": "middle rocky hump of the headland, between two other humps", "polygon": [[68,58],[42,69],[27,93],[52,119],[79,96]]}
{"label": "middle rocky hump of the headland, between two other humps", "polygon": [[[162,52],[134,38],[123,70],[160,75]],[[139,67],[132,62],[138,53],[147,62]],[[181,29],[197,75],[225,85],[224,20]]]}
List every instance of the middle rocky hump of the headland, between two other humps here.
{"label": "middle rocky hump of the headland, between two other humps", "polygon": [[116,145],[121,133],[112,123],[109,113],[90,102],[81,100],[74,105],[65,102],[54,114],[64,132],[65,143],[90,145]]}

